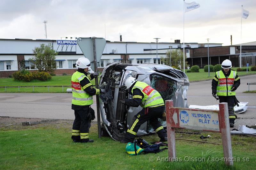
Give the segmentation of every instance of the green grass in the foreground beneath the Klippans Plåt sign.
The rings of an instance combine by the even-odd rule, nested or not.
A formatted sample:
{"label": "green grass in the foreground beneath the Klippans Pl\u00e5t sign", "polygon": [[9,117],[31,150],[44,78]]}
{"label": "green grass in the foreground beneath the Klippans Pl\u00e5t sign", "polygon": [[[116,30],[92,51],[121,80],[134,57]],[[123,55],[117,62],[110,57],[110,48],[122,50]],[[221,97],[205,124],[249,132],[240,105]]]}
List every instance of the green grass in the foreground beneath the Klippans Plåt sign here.
{"label": "green grass in the foreground beneath the Klippans Pl\u00e5t sign", "polygon": [[[94,143],[72,143],[72,123],[54,123],[0,128],[0,169],[255,169],[254,137],[232,136],[233,157],[248,161],[227,167],[218,161],[222,145],[176,140],[176,162],[167,162],[168,151],[130,156],[124,143],[110,137],[98,138],[97,124],[90,128]],[[180,129],[179,129],[180,130]],[[208,142],[221,143],[220,134]],[[176,138],[201,140],[200,135],[176,133]],[[159,140],[156,134],[141,136],[148,142]],[[205,141],[205,139],[204,139]],[[198,159],[198,161],[192,161]],[[202,161],[200,161],[202,160]]]}

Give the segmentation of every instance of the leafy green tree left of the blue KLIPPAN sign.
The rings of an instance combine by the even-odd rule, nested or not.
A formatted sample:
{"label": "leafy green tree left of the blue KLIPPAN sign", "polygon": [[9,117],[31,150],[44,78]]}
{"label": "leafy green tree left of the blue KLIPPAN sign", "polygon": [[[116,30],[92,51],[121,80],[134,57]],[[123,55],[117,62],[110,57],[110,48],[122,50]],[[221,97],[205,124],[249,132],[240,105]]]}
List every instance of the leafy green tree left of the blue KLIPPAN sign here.
{"label": "leafy green tree left of the blue KLIPPAN sign", "polygon": [[56,69],[56,55],[58,55],[58,53],[52,49],[52,44],[40,44],[40,47],[35,47],[33,57],[28,60],[39,72],[53,73]]}

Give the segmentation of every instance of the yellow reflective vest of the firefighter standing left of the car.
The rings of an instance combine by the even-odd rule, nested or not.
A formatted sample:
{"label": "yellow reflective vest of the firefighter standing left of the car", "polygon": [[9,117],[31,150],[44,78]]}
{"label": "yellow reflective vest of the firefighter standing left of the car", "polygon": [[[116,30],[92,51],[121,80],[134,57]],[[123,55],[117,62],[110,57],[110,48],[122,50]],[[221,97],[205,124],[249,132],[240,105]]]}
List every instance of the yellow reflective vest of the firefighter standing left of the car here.
{"label": "yellow reflective vest of the firefighter standing left of the car", "polygon": [[[84,78],[88,79],[90,83],[81,87],[80,81]],[[76,71],[71,77],[72,84],[72,104],[75,105],[91,105],[93,103],[92,96],[84,91],[84,89],[92,85],[91,80],[84,74]]]}

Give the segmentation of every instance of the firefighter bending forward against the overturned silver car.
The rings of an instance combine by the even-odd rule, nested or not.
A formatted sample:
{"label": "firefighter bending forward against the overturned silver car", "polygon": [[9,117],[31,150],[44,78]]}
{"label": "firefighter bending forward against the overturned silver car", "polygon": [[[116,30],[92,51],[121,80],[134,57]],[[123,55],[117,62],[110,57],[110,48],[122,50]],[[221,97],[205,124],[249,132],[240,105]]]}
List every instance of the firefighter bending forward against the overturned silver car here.
{"label": "firefighter bending forward against the overturned silver car", "polygon": [[140,125],[148,120],[160,137],[160,141],[167,141],[166,131],[158,121],[158,118],[161,118],[164,113],[164,100],[159,92],[150,87],[147,83],[137,81],[133,77],[128,77],[124,84],[126,89],[130,89],[132,99],[123,99],[121,103],[132,107],[139,107],[140,105],[142,110],[133,117],[125,133],[125,138],[121,143],[132,142]]}

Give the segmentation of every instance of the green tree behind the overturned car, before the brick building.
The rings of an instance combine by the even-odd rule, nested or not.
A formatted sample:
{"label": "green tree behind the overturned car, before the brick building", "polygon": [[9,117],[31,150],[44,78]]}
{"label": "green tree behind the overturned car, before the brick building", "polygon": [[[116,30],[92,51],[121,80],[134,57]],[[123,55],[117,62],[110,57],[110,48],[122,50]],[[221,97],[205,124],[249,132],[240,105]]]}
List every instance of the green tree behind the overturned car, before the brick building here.
{"label": "green tree behind the overturned car, before the brick building", "polygon": [[[167,58],[161,58],[162,61],[164,61],[165,65],[170,66],[170,51],[166,52]],[[183,52],[180,49],[172,49],[172,66],[180,69],[183,68]],[[185,68],[187,68],[188,61],[186,60],[187,57],[185,55]]]}

